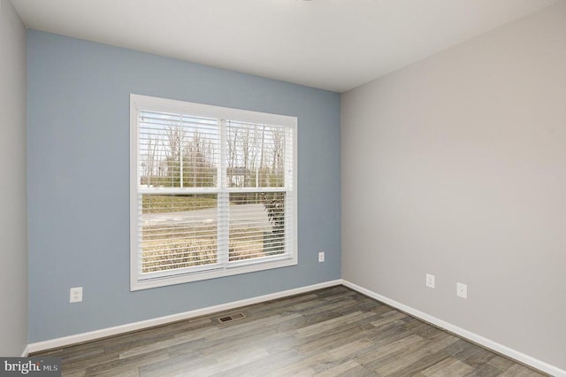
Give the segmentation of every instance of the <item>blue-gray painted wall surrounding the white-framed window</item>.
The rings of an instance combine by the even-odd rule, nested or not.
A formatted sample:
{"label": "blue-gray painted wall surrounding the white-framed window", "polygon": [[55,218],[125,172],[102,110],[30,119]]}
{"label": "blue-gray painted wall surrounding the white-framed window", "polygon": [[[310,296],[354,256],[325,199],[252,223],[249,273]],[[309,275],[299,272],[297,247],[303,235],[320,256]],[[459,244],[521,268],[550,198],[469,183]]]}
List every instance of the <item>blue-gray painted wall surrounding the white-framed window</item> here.
{"label": "blue-gray painted wall surrounding the white-framed window", "polygon": [[[337,93],[34,30],[27,73],[30,342],[340,279]],[[130,93],[298,117],[299,265],[130,292]]]}

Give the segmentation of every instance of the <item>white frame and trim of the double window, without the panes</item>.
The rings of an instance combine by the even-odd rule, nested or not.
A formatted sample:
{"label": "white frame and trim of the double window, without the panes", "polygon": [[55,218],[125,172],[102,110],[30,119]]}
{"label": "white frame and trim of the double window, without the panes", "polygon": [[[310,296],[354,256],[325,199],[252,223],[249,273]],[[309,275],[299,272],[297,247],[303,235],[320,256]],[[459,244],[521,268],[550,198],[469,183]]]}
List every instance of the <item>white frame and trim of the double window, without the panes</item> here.
{"label": "white frame and trim of the double window, without the panes", "polygon": [[[138,208],[138,196],[145,192],[140,182],[141,177],[138,172],[138,119],[141,110],[157,112],[180,112],[195,116],[203,116],[218,119],[237,119],[238,121],[263,123],[273,126],[286,127],[292,133],[291,149],[292,157],[290,165],[286,166],[286,188],[261,188],[260,191],[285,191],[291,196],[290,205],[286,204],[286,252],[280,256],[269,258],[245,259],[225,263],[222,268],[200,271],[190,271],[190,268],[180,270],[170,270],[154,274],[147,279],[142,273],[142,260],[140,242],[141,237],[138,233],[138,224],[141,220],[141,208]],[[297,118],[287,115],[270,114],[264,112],[251,112],[208,104],[195,104],[172,99],[165,99],[153,96],[130,95],[130,290],[150,289],[163,287],[173,284],[180,284],[189,281],[203,281],[208,279],[231,276],[240,273],[253,273],[272,268],[297,265]],[[225,146],[222,147],[223,149]],[[286,159],[287,161],[289,158]],[[289,174],[288,172],[291,171]],[[203,188],[203,193],[231,193],[257,191],[257,188],[226,188],[226,182],[220,182],[219,188]],[[195,190],[193,189],[193,192]],[[289,227],[287,227],[287,224]],[[220,258],[221,256],[219,256]]]}

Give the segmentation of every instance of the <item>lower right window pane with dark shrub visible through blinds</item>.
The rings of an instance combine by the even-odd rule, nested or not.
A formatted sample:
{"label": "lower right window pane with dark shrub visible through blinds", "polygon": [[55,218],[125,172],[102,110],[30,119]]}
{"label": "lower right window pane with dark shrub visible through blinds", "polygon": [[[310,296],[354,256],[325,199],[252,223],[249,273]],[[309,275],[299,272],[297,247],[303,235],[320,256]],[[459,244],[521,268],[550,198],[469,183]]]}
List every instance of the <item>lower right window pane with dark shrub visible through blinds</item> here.
{"label": "lower right window pane with dark shrub visible through blinds", "polygon": [[285,193],[230,194],[229,261],[285,252]]}

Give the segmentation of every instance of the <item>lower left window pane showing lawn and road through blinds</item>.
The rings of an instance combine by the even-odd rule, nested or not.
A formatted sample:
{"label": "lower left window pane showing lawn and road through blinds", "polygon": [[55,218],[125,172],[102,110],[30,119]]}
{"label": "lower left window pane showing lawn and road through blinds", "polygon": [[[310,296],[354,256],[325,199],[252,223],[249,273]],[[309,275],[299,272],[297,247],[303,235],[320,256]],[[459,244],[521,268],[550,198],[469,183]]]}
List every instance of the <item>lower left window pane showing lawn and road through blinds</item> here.
{"label": "lower left window pane showing lawn and road through blinds", "polygon": [[216,195],[142,195],[142,273],[218,261]]}

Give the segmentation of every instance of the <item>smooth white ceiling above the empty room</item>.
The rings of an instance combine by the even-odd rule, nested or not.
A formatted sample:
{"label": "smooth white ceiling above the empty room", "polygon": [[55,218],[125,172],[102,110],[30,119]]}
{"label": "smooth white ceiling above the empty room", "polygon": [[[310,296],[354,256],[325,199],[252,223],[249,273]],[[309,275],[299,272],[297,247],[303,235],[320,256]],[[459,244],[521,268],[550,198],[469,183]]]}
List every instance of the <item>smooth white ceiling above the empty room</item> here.
{"label": "smooth white ceiling above the empty room", "polygon": [[343,92],[558,0],[11,0],[29,28]]}

